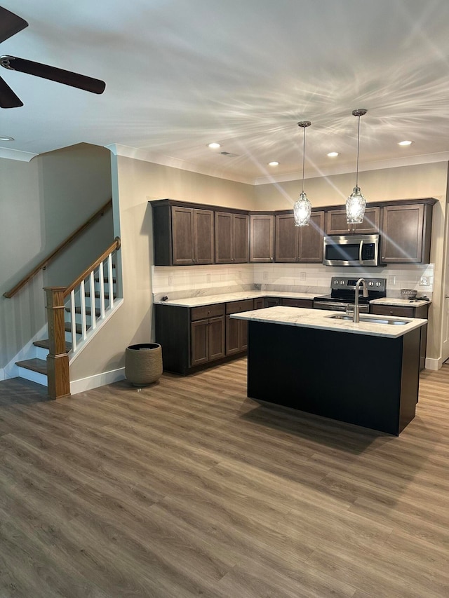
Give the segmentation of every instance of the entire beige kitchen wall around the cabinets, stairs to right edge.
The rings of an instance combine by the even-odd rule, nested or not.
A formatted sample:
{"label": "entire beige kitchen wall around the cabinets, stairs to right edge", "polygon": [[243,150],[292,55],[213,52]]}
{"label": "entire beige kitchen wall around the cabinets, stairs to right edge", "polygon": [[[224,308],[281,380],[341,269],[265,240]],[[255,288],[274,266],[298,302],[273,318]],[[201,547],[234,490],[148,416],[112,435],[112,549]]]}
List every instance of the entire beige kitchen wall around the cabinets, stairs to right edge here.
{"label": "entire beige kitchen wall around the cabinets, stairs to right edge", "polygon": [[[436,205],[432,259],[441,277],[443,220],[447,164],[420,165],[362,172],[360,184],[368,201],[387,201],[433,196]],[[102,334],[94,337],[74,361],[72,381],[113,372],[124,365],[126,346],[152,340],[152,213],[148,201],[173,198],[246,210],[291,208],[299,193],[299,182],[251,186],[153,163],[112,156],[115,234],[121,236],[123,298]],[[339,205],[354,186],[354,175],[307,179],[305,190],[314,205]],[[441,294],[441,285],[436,293]],[[436,305],[439,304],[437,297]],[[431,335],[441,324],[432,308]],[[433,327],[433,328],[432,328]],[[439,330],[438,330],[439,334]],[[432,340],[436,353],[438,342]]]}

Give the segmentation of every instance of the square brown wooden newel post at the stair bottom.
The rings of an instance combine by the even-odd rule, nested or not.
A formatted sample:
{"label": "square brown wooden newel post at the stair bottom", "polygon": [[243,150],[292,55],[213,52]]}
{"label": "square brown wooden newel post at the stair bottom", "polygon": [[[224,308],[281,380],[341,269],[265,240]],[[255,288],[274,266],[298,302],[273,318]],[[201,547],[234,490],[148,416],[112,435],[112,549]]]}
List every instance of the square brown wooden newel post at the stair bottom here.
{"label": "square brown wooden newel post at the stair bottom", "polygon": [[48,395],[70,396],[69,355],[65,350],[65,287],[44,287],[50,352],[47,355]]}

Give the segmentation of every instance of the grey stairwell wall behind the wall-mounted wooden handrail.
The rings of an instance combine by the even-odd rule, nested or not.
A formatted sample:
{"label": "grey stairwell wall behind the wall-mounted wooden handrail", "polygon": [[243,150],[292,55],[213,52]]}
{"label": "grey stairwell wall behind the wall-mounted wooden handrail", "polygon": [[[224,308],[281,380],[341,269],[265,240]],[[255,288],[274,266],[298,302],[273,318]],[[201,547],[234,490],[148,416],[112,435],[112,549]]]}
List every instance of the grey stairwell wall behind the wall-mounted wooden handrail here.
{"label": "grey stairwell wall behind the wall-mounted wooden handrail", "polygon": [[[112,213],[15,297],[8,291],[112,196],[109,151],[78,144],[31,162],[0,158],[0,374],[46,324],[46,285],[67,285],[112,242]],[[0,376],[1,377],[1,376]]]}

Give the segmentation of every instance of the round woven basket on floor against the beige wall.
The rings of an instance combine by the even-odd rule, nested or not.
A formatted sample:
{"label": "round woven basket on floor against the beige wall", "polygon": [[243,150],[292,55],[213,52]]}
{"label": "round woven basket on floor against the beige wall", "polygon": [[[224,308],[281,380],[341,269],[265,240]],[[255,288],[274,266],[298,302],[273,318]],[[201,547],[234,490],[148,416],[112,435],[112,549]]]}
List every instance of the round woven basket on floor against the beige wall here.
{"label": "round woven basket on floor against the beige wall", "polygon": [[162,375],[162,347],[157,343],[130,345],[125,351],[125,376],[133,386],[147,386]]}

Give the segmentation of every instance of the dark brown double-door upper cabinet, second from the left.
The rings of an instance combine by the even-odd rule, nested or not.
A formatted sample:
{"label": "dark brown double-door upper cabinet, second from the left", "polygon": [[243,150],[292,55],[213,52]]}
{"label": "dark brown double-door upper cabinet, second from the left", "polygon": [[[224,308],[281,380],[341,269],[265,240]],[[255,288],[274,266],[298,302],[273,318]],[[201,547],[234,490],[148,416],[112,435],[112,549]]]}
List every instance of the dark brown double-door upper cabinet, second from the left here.
{"label": "dark brown double-door upper cabinet, second from the left", "polygon": [[215,264],[241,264],[248,254],[248,214],[215,212]]}

